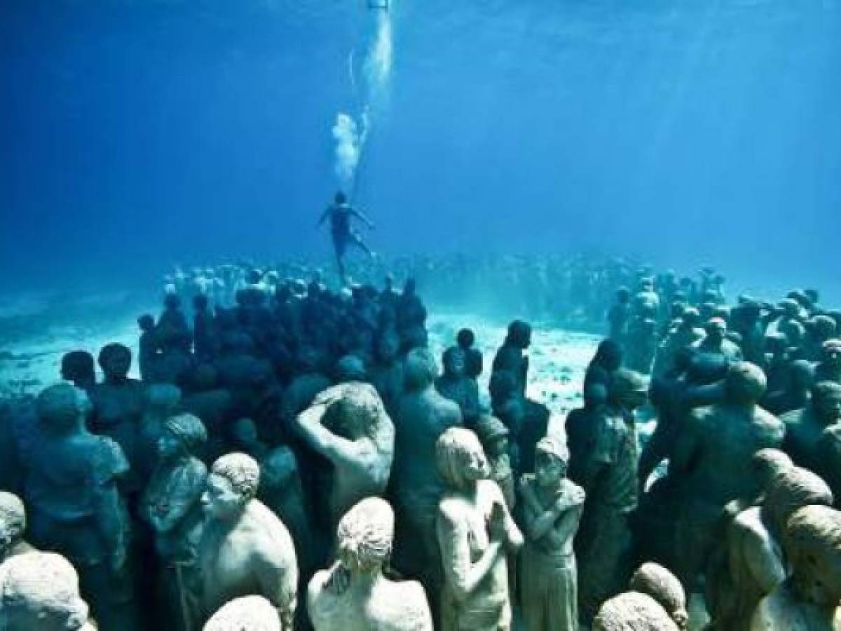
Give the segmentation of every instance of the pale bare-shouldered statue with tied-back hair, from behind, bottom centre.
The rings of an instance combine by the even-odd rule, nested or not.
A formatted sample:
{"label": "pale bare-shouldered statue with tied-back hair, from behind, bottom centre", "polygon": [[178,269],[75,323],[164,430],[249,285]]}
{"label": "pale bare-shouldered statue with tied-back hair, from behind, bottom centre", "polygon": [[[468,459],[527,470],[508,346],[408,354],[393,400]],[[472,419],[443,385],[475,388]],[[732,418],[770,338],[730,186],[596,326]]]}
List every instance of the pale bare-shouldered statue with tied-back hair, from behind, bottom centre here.
{"label": "pale bare-shouldered statue with tied-back hair, from behind, bottom centre", "polygon": [[394,541],[394,512],[387,501],[358,502],[341,518],[337,541],[336,563],[309,581],[315,631],[432,631],[421,584],[383,575]]}

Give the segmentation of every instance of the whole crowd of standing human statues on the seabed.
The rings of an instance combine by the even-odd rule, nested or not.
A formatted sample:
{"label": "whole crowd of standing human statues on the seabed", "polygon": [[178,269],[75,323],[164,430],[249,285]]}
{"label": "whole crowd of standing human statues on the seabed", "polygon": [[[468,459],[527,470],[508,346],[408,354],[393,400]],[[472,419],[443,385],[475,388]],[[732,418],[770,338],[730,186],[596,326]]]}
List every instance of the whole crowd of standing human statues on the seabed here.
{"label": "whole crowd of standing human statues on the seabed", "polygon": [[0,629],[665,631],[689,597],[710,631],[841,628],[841,318],[817,292],[603,279],[559,418],[526,321],[485,397],[470,329],[439,370],[413,279],[294,271],[175,274],[137,358],[67,353],[7,406]]}

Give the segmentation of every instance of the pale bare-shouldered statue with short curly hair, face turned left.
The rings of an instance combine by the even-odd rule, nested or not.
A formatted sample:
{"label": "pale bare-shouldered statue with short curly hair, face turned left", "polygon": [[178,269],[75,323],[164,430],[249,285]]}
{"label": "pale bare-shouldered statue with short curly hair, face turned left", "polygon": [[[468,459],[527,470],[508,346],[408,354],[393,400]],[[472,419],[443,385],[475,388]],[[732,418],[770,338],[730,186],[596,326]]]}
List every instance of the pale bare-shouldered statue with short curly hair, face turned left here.
{"label": "pale bare-shouldered statue with short curly hair, face turned left", "polygon": [[198,544],[204,615],[234,598],[257,594],[278,610],[283,631],[293,628],[298,561],[288,530],[255,499],[260,465],[245,453],[214,462],[202,496],[206,514]]}

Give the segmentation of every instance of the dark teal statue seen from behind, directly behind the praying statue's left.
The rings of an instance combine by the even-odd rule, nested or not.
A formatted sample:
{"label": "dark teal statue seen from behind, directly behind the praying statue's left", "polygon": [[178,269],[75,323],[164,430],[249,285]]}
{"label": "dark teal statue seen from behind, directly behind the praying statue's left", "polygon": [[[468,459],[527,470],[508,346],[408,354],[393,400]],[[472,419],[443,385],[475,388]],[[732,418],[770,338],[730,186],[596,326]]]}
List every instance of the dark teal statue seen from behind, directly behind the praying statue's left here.
{"label": "dark teal statue seen from behind, directly behind the praying statue's left", "polygon": [[417,348],[406,356],[406,390],[394,423],[391,475],[399,528],[395,565],[405,574],[421,576],[433,602],[441,583],[435,515],[445,488],[436,475],[436,441],[450,427],[462,424],[458,405],[435,390],[436,371],[435,358],[427,349]]}

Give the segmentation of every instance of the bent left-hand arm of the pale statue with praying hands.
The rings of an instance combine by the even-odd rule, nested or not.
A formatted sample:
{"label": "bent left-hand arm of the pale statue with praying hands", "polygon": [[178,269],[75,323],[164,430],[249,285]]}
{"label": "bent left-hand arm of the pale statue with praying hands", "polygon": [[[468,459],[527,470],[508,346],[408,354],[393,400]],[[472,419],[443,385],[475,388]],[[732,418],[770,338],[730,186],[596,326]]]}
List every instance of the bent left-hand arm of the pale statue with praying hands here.
{"label": "bent left-hand arm of the pale statue with praying hands", "polygon": [[463,602],[494,567],[502,554],[502,544],[490,542],[479,560],[471,563],[467,523],[452,512],[444,506],[439,508],[436,528],[447,585],[452,588],[456,600]]}

